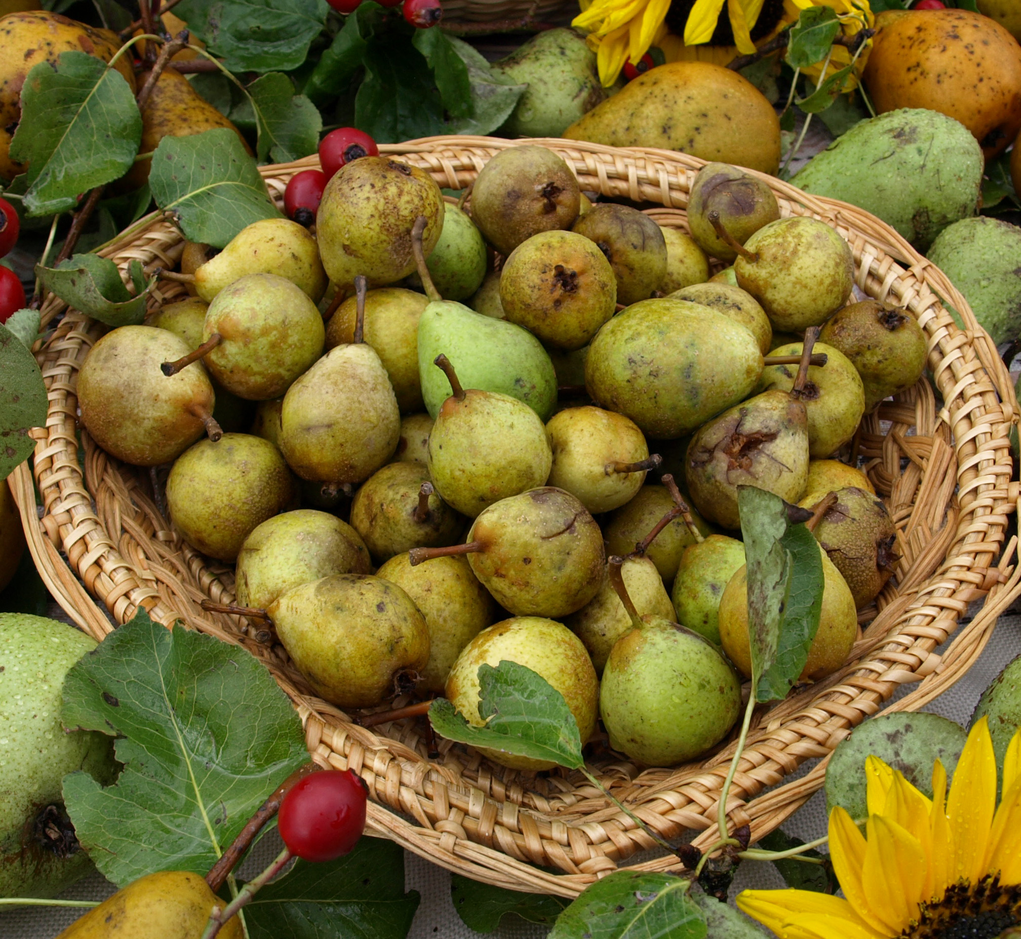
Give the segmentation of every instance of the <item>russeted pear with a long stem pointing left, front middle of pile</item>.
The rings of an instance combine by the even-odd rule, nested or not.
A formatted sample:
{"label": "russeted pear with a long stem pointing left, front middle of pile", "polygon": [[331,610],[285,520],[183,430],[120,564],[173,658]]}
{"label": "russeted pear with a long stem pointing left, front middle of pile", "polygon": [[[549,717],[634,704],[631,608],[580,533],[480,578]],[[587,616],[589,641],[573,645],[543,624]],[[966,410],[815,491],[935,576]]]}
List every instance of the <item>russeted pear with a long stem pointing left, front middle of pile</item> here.
{"label": "russeted pear with a long stem pointing left, front middle of pile", "polygon": [[468,539],[449,548],[416,548],[411,563],[468,554],[475,576],[516,616],[566,616],[599,589],[602,533],[563,489],[544,486],[490,505]]}

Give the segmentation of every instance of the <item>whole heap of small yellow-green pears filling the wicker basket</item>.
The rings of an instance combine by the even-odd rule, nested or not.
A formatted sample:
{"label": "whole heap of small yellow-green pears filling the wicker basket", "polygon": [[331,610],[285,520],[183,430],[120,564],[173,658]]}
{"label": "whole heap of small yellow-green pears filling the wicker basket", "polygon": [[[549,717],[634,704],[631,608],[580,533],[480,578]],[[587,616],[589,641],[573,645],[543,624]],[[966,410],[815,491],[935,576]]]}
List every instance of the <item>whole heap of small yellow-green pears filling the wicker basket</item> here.
{"label": "whole heap of small yellow-green pears filling the wicker basket", "polygon": [[533,145],[460,197],[366,156],[308,229],[186,244],[168,276],[189,296],[95,344],[82,422],[152,469],[185,542],[236,564],[250,638],[326,701],[443,694],[478,724],[479,665],[514,660],[583,740],[698,759],[749,675],[738,487],[812,509],[817,681],[898,556],[840,457],[922,377],[924,334],[856,300],[837,231],[781,217],[733,166],[694,179],[690,234],[593,201]]}

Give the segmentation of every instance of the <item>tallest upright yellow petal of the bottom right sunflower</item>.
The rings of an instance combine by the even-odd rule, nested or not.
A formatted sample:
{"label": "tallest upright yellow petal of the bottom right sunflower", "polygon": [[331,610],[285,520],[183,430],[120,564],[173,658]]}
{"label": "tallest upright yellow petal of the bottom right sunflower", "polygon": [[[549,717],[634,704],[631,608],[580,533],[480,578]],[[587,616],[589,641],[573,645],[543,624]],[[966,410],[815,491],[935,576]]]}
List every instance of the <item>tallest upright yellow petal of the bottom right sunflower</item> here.
{"label": "tallest upright yellow petal of the bottom right sunflower", "polygon": [[996,759],[985,718],[968,734],[946,800],[954,836],[951,877],[976,883],[984,874],[989,828],[996,804]]}

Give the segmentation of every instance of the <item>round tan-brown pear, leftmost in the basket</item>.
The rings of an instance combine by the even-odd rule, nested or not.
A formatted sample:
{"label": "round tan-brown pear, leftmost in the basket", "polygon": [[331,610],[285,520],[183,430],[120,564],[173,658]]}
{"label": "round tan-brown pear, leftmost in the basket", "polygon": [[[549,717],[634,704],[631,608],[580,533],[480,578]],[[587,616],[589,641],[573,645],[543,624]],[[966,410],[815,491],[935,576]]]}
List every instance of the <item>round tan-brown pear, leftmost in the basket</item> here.
{"label": "round tan-brown pear, leftmost in the basket", "polygon": [[188,353],[185,341],[151,326],[123,326],[89,351],[78,375],[82,424],[107,453],[137,466],[158,466],[208,430],[215,398],[201,364],[166,378],[159,365]]}

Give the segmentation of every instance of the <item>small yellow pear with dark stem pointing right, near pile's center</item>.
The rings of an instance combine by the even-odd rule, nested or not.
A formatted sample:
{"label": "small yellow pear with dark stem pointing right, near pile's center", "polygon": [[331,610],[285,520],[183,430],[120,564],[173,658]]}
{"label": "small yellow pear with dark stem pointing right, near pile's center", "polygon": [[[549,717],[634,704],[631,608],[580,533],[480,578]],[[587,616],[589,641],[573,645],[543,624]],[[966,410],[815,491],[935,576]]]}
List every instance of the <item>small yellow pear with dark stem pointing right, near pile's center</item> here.
{"label": "small yellow pear with dark stem pointing right, near pile's center", "polygon": [[633,421],[601,407],[569,407],[546,425],[553,462],[547,482],[577,496],[592,514],[631,500],[660,457]]}

